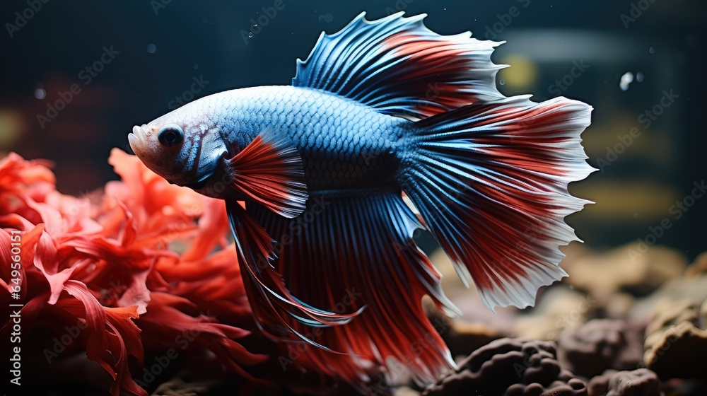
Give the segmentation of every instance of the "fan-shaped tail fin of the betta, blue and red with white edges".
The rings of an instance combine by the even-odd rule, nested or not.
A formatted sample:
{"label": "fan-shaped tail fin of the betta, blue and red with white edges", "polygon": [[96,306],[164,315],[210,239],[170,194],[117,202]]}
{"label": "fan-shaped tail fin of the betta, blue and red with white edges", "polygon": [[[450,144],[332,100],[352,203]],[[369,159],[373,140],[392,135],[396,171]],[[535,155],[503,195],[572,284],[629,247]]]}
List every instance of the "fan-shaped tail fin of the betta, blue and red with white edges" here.
{"label": "fan-shaped tail fin of the betta, blue and red with white edges", "polygon": [[401,185],[487,308],[525,308],[566,276],[559,247],[578,238],[563,219],[590,203],[567,190],[594,171],[580,144],[590,112],[518,96],[416,122]]}

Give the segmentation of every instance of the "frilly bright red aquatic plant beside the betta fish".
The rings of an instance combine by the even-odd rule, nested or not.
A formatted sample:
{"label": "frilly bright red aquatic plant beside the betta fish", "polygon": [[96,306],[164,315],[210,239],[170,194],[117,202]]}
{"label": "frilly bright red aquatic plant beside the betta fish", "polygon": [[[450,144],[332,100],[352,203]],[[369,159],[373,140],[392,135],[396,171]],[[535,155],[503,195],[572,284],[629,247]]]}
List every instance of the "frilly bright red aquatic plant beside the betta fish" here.
{"label": "frilly bright red aquatic plant beside the betta fish", "polygon": [[[108,161],[121,180],[83,197],[58,192],[47,161],[0,161],[0,302],[21,307],[23,337],[62,339],[61,351],[44,349],[47,362],[85,353],[112,377],[114,396],[147,394],[145,351],[208,349],[248,377],[241,366],[266,357],[236,341],[250,308],[223,202],[118,149]],[[13,322],[3,320],[9,340]]]}

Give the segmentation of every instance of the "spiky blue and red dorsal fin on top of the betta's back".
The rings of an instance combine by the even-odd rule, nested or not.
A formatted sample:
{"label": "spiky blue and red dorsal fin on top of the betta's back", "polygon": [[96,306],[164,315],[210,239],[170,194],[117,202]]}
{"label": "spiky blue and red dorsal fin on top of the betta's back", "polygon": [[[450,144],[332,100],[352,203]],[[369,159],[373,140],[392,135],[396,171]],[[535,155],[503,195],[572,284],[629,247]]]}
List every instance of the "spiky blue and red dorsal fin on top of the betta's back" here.
{"label": "spiky blue and red dorsal fin on top of the betta's back", "polygon": [[505,97],[491,62],[502,42],[471,33],[443,36],[426,28],[426,14],[402,12],[378,21],[361,13],[339,33],[322,32],[293,86],[317,88],[357,100],[379,112],[421,119],[463,105]]}

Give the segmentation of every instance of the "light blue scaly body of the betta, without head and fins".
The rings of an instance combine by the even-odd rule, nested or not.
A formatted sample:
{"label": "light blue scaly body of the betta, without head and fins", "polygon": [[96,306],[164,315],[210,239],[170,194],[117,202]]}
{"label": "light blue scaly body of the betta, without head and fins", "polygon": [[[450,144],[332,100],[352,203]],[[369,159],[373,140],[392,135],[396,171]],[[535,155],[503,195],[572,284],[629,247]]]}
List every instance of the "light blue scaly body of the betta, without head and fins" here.
{"label": "light blue scaly body of the betta, without head and fins", "polygon": [[243,88],[204,99],[214,100],[212,120],[236,151],[264,128],[288,136],[302,155],[310,190],[392,183],[399,161],[390,142],[402,139],[410,124],[311,88]]}

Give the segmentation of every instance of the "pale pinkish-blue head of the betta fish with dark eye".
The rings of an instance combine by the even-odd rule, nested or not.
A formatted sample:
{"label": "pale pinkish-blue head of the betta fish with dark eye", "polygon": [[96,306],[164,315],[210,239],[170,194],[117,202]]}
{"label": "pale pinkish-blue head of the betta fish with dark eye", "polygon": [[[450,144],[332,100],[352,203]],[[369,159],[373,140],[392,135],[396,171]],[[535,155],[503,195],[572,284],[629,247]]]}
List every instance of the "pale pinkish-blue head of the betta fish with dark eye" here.
{"label": "pale pinkish-blue head of the betta fish with dark eye", "polygon": [[130,147],[147,168],[171,184],[222,197],[228,190],[223,163],[228,156],[226,143],[218,125],[188,116],[178,109],[148,124],[136,125],[128,135]]}

